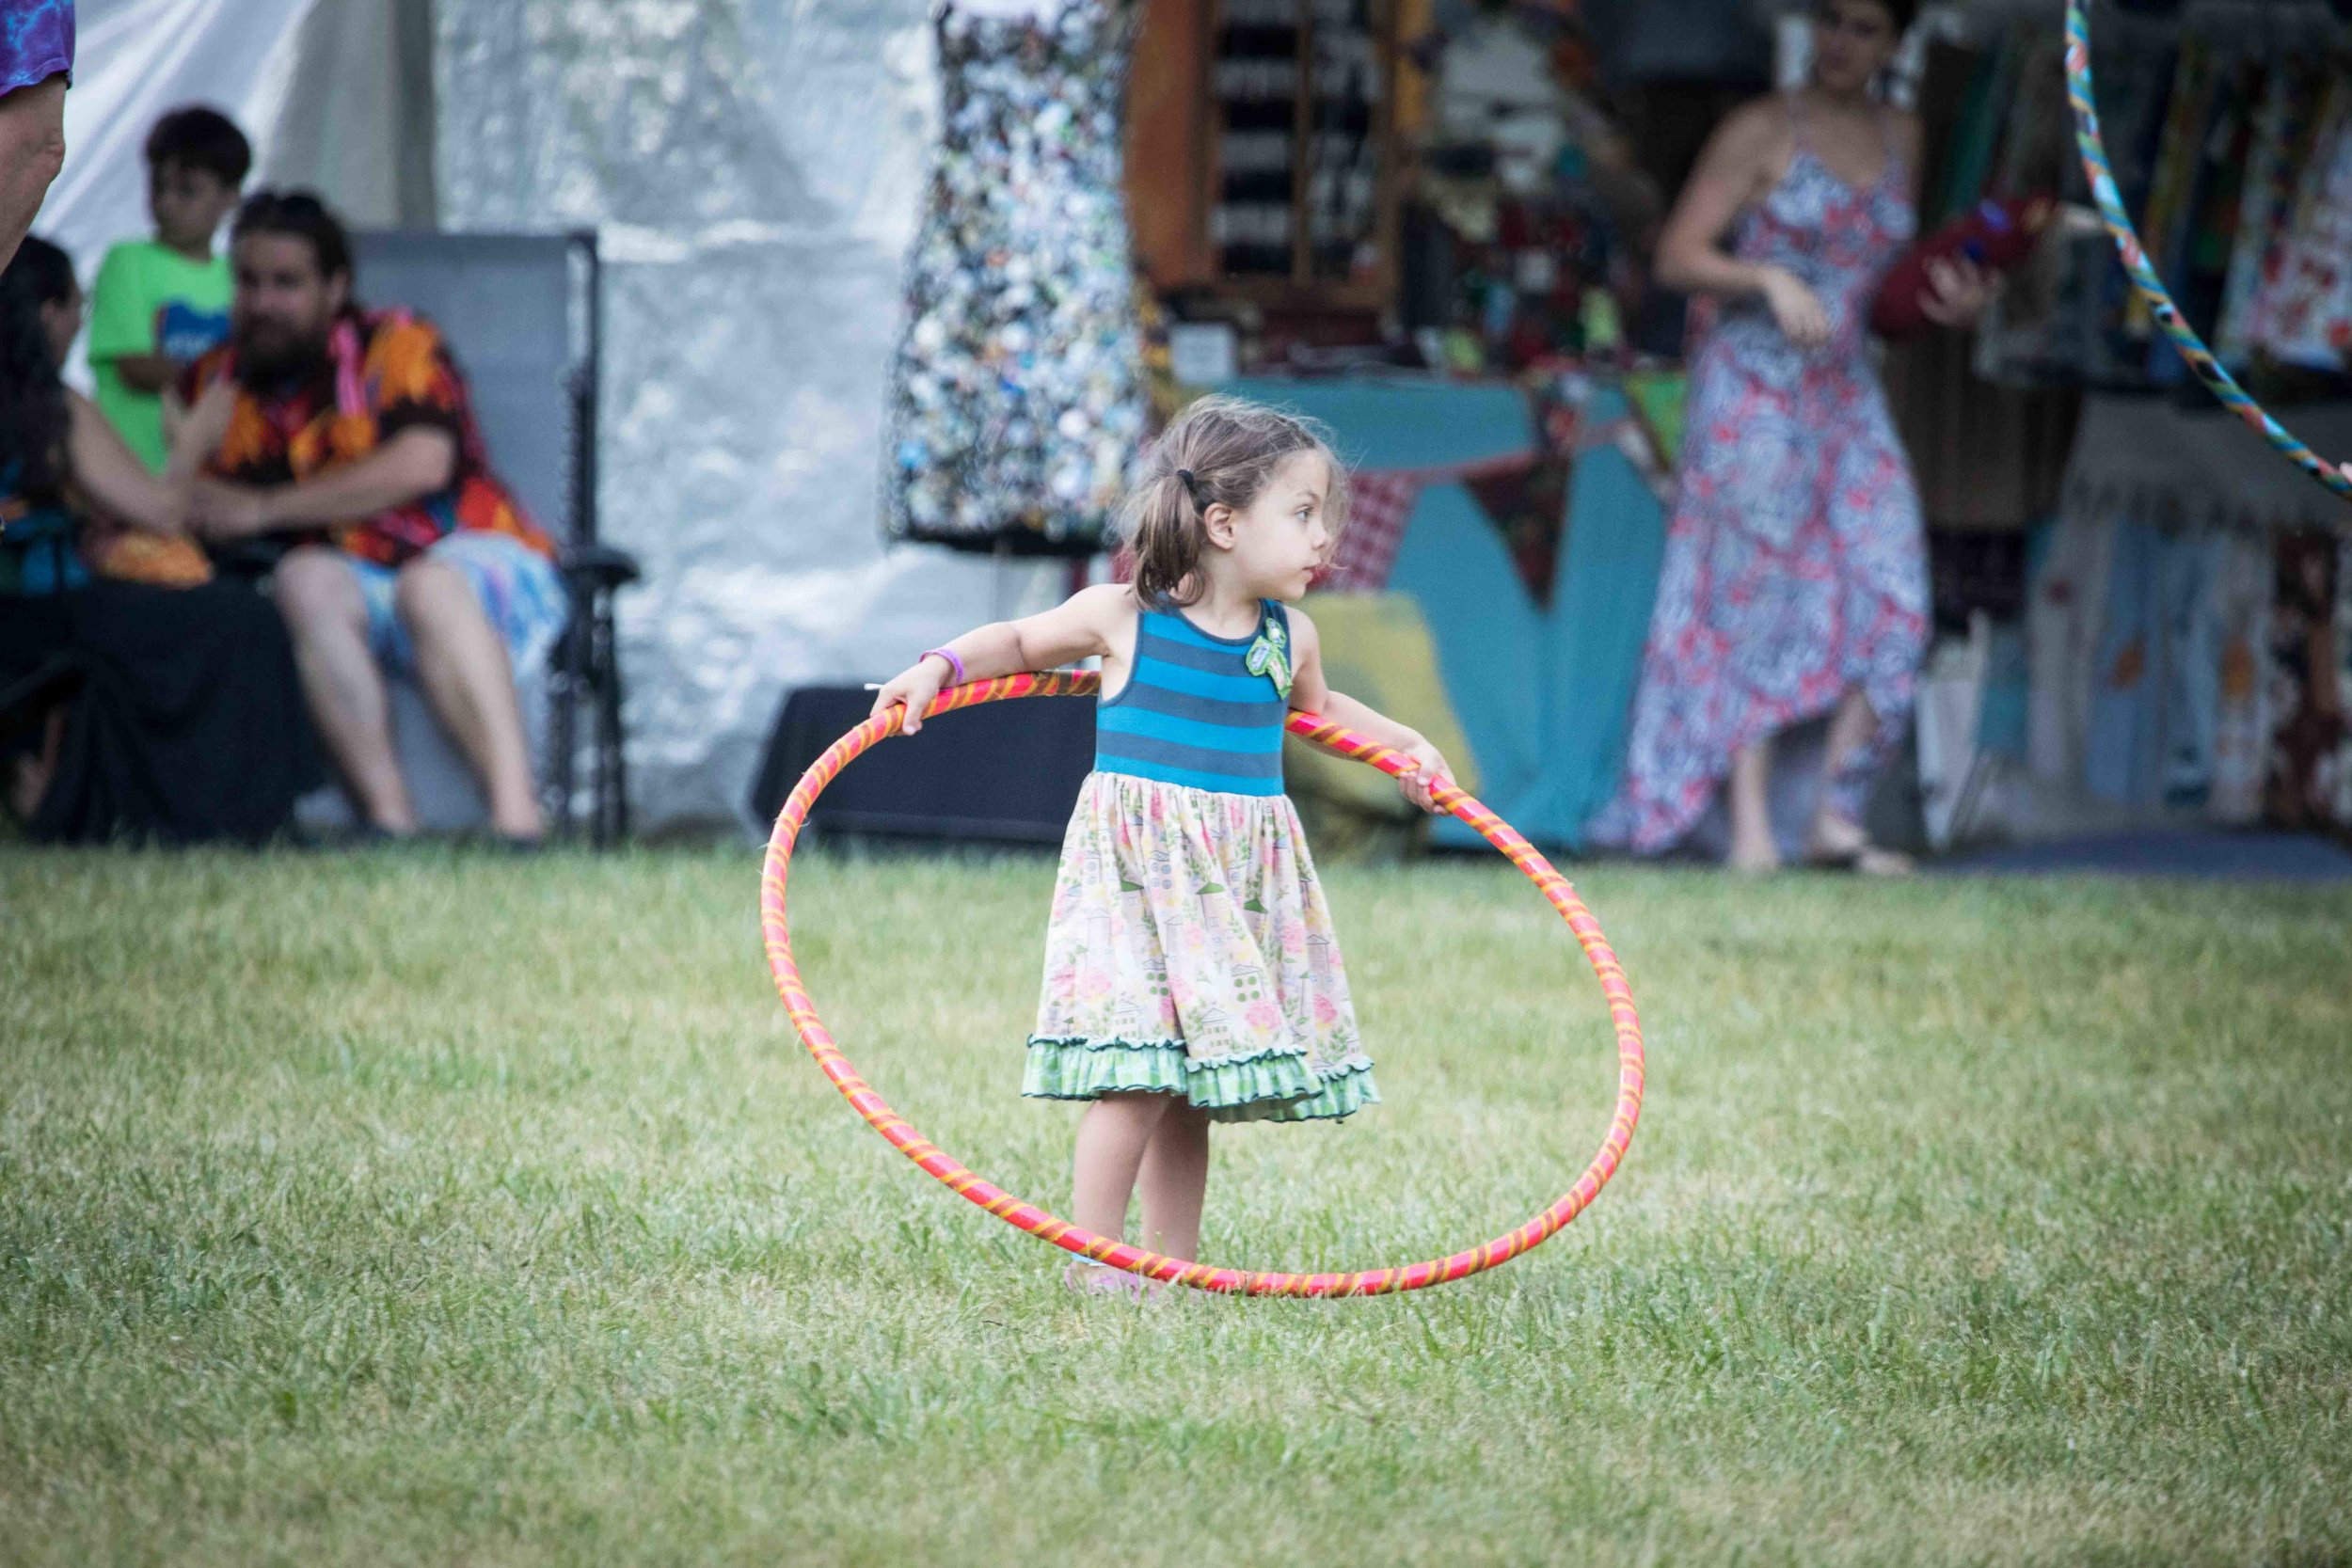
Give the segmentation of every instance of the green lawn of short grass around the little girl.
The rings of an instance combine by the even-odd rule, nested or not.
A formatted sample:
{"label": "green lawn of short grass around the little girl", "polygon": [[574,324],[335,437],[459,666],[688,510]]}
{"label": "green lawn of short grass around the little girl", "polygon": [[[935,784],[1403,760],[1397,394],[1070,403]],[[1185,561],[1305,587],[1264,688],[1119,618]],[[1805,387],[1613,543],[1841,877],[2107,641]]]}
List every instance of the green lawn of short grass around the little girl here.
{"label": "green lawn of short grass around the little girl", "polygon": [[[866,1074],[1016,1098],[1047,860],[809,860]],[[1505,1229],[1597,987],[1501,863],[1331,877],[1388,1103],[1207,1251]],[[1369,1302],[1077,1302],[809,1065],[757,858],[0,853],[0,1561],[2343,1563],[2352,898],[1595,870],[1599,1204]]]}

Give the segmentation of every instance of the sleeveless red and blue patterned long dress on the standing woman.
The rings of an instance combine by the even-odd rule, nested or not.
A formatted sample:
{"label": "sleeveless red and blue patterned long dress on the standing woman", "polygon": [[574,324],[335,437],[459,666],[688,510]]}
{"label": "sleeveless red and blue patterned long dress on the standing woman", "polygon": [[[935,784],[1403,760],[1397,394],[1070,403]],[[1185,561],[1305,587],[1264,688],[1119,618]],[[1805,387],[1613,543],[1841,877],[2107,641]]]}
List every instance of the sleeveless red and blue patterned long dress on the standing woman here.
{"label": "sleeveless red and blue patterned long dress on the standing woman", "polygon": [[1877,733],[1832,780],[1863,795],[1910,717],[1926,649],[1919,489],[1870,362],[1870,301],[1917,230],[1907,169],[1849,186],[1804,143],[1740,221],[1733,254],[1820,296],[1830,343],[1795,348],[1762,301],[1724,306],[1691,364],[1682,494],[1635,696],[1618,797],[1597,844],[1670,849],[1731,757],[1860,686]]}

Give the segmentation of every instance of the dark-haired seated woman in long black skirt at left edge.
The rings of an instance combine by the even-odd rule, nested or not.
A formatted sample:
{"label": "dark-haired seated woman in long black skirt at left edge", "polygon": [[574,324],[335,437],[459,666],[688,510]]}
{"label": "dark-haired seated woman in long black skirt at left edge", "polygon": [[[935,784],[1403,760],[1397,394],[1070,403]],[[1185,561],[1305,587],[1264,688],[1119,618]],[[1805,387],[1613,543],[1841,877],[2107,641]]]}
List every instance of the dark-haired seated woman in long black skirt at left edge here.
{"label": "dark-haired seated woman in long black skirt at left edge", "polygon": [[245,839],[318,778],[285,625],[212,583],[186,489],[155,480],[59,367],[73,263],[0,273],[0,799],[59,842]]}

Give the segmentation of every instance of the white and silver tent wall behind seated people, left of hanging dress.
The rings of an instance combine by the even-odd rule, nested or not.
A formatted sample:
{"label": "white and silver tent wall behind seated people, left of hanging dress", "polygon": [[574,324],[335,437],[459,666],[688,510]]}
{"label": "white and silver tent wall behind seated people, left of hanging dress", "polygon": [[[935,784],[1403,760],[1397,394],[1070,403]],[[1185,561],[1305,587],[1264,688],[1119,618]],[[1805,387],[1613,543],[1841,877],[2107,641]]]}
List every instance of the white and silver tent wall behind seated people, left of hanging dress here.
{"label": "white and silver tent wall behind seated people, left of hanging dress", "polygon": [[602,529],[647,567],[621,614],[640,825],[753,825],[786,691],[880,679],[1058,590],[1058,564],[877,534],[936,115],[924,0],[82,0],[80,19],[38,230],[85,270],[146,228],[141,141],[186,101],[247,127],[259,179],[355,223],[600,230]]}

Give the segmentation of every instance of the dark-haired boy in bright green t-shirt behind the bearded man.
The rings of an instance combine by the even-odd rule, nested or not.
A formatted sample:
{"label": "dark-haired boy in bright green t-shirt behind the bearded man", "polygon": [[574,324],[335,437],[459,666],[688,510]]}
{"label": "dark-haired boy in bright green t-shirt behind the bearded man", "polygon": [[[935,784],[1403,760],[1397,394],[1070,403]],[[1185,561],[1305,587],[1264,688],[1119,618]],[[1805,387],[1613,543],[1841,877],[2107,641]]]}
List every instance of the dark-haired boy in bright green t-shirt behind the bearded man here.
{"label": "dark-haired boy in bright green t-shirt behind the bearded man", "polygon": [[153,240],[106,252],[89,289],[89,369],[99,409],[162,473],[162,393],[228,339],[228,256],[212,235],[254,165],[245,134],[209,108],[176,108],[148,132]]}

